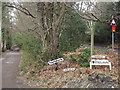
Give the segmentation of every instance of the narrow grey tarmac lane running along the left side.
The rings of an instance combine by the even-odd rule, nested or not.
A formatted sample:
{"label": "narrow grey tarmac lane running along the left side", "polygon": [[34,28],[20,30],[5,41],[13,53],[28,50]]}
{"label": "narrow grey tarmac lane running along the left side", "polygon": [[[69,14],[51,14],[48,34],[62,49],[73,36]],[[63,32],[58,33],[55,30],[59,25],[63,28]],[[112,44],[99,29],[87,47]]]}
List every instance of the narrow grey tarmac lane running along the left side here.
{"label": "narrow grey tarmac lane running along the left side", "polygon": [[20,80],[17,79],[19,75],[19,62],[21,59],[20,52],[7,52],[2,60],[2,88],[25,88]]}

